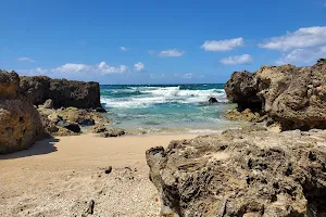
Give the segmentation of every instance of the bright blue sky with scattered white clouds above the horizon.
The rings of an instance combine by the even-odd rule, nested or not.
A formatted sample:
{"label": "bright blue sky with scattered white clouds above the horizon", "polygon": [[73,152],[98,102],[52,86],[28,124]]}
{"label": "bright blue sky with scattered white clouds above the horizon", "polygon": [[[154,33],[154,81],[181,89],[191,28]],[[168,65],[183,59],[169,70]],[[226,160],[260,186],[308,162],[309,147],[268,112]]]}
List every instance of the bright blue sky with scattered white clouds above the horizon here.
{"label": "bright blue sky with scattered white clouds above the horizon", "polygon": [[326,0],[0,0],[0,68],[100,84],[216,84],[326,58]]}

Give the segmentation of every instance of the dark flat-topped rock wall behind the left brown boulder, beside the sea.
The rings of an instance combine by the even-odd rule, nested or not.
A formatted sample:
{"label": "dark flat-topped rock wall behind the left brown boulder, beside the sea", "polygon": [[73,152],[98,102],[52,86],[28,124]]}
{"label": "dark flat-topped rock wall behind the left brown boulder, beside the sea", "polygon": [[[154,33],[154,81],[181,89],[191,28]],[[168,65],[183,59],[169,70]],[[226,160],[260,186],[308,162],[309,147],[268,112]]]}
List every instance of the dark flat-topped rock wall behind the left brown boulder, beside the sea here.
{"label": "dark flat-topped rock wall behind the left brown boulder, beside the sea", "polygon": [[47,76],[22,76],[20,86],[20,92],[35,105],[43,104],[46,100],[51,99],[55,108],[74,106],[96,110],[101,107],[98,82],[51,79]]}

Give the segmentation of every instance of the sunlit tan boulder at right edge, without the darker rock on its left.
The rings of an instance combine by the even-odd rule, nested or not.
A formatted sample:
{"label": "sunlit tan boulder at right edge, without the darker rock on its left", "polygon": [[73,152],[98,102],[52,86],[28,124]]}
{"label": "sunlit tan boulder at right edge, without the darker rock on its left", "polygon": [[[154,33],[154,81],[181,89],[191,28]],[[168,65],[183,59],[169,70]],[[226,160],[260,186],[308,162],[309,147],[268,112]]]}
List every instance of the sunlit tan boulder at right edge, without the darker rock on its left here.
{"label": "sunlit tan boulder at right edge, without the darker rock on its left", "polygon": [[264,112],[283,129],[326,128],[326,60],[311,67],[265,66],[256,80]]}

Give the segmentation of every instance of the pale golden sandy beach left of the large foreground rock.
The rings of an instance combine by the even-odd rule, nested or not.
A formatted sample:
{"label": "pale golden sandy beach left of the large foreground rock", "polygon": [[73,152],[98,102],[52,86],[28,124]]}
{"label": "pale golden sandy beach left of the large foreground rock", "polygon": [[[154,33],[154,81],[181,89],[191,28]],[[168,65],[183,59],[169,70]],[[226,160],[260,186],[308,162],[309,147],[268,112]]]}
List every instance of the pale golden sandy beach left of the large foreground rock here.
{"label": "pale golden sandy beach left of the large foreground rock", "polygon": [[[145,152],[196,135],[57,137],[0,156],[0,216],[158,216]],[[105,168],[112,171],[105,174]],[[87,215],[86,215],[87,216]]]}

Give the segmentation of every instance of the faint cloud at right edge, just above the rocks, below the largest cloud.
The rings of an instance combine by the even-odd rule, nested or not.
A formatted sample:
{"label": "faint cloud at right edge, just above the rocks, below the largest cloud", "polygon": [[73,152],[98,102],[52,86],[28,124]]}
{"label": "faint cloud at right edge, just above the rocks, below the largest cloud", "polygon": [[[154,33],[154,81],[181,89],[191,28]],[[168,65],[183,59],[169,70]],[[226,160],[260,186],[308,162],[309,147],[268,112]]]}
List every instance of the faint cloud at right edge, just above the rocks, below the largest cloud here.
{"label": "faint cloud at right edge, just above the rocks, below the largest cloud", "polygon": [[326,46],[316,49],[294,49],[289,53],[283,54],[276,61],[276,64],[313,63],[321,58],[326,58]]}

